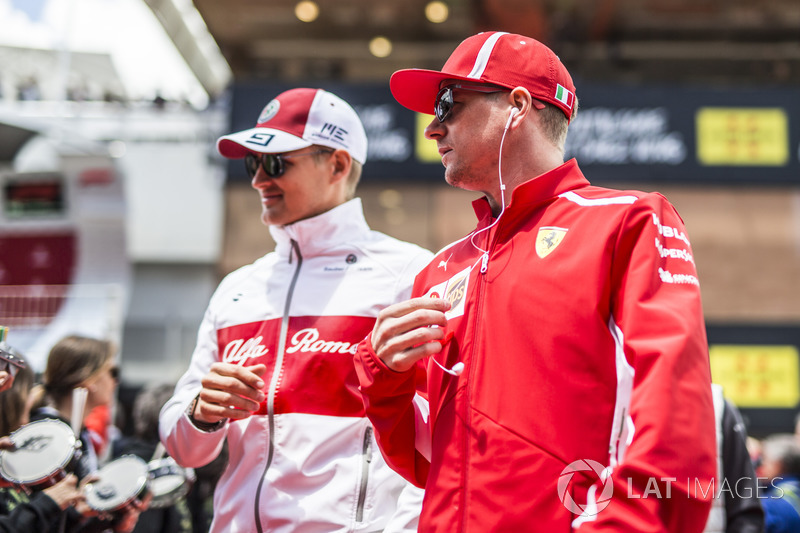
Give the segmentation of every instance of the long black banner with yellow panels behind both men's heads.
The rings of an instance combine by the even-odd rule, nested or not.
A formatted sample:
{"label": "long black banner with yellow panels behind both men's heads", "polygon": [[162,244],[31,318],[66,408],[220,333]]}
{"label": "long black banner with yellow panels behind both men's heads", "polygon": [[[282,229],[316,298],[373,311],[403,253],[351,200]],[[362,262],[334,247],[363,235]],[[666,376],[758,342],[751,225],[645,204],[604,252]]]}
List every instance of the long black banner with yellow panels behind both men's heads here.
{"label": "long black banner with yellow panels behind both men's heads", "polygon": [[[231,131],[251,128],[287,84],[238,84]],[[363,179],[443,179],[435,145],[422,128],[432,117],[397,104],[388,84],[312,83],[349,102],[367,130]],[[603,181],[800,183],[800,88],[701,90],[579,84],[580,109],[566,157]],[[244,166],[229,177],[246,180]]]}

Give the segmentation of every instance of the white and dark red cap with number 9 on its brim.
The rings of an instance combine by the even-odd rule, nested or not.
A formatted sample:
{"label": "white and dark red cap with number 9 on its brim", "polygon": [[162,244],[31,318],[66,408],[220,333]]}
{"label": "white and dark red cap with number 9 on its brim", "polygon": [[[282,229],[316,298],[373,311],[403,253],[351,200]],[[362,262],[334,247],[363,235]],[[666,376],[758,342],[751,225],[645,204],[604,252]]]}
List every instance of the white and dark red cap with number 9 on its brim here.
{"label": "white and dark red cap with number 9 on its brim", "polygon": [[350,152],[367,161],[367,133],[355,110],[323,89],[291,89],[276,96],[261,111],[255,128],[224,135],[217,150],[229,159],[248,152],[279,154],[317,144]]}

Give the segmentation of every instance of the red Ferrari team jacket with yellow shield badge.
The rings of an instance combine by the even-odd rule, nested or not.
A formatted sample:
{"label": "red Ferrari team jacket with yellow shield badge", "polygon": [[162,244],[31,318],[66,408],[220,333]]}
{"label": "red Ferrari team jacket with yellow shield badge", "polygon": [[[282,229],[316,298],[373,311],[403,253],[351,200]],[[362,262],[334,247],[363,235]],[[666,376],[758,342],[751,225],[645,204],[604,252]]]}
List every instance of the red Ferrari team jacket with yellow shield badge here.
{"label": "red Ferrari team jacket with yellow shield badge", "polygon": [[355,356],[387,461],[426,489],[419,530],[702,531],[716,437],[679,215],[590,185],[574,160],[517,187],[487,231],[488,202],[474,207],[476,230],[413,291],[451,302],[434,357],[463,373],[393,372],[369,338]]}

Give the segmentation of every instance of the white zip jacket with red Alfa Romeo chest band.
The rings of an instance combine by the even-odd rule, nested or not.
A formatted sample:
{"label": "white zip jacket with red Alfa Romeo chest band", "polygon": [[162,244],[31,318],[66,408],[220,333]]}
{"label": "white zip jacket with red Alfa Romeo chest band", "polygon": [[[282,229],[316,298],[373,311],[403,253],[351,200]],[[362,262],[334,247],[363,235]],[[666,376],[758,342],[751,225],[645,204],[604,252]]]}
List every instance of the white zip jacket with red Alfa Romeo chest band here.
{"label": "white zip jacket with red Alfa Romeo chest band", "polygon": [[[416,531],[422,492],[381,457],[353,354],[432,254],[371,231],[358,199],[270,232],[275,251],[211,298],[191,365],[161,411],[161,439],[187,467],[209,463],[227,439],[212,531]],[[206,433],[186,409],[216,361],[266,364],[267,400]]]}

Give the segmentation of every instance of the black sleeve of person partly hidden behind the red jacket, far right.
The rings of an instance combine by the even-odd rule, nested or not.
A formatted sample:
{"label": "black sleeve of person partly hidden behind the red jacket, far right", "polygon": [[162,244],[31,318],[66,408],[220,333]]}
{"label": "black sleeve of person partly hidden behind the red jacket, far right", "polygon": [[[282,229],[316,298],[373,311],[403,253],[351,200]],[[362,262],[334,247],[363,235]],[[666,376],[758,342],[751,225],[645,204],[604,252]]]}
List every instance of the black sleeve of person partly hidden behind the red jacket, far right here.
{"label": "black sleeve of person partly hidden behind the red jacket, far right", "polygon": [[761,533],[764,509],[739,410],[728,400],[722,415],[722,472],[727,533]]}

